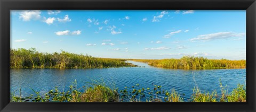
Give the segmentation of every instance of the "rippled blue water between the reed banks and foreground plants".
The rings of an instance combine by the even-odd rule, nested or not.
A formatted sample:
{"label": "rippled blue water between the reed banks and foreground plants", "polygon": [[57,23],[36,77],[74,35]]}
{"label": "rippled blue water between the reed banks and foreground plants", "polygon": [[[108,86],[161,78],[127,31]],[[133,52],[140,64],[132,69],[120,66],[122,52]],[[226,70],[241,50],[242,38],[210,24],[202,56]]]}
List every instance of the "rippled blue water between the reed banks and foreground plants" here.
{"label": "rippled blue water between the reed banks and foreground plants", "polygon": [[[187,99],[193,93],[196,83],[201,90],[217,90],[220,93],[219,80],[227,85],[229,92],[237,84],[245,84],[245,69],[220,70],[172,70],[151,67],[145,63],[128,61],[145,67],[96,68],[96,69],[11,69],[11,92],[21,88],[22,96],[35,94],[30,88],[46,93],[59,87],[59,90],[69,90],[69,85],[77,80],[77,87],[90,84],[92,80],[103,79],[107,84],[115,83],[119,89],[132,87],[139,83],[141,88],[153,88],[153,84],[162,85],[162,90],[175,89],[184,93]],[[18,93],[18,92],[17,92]]]}

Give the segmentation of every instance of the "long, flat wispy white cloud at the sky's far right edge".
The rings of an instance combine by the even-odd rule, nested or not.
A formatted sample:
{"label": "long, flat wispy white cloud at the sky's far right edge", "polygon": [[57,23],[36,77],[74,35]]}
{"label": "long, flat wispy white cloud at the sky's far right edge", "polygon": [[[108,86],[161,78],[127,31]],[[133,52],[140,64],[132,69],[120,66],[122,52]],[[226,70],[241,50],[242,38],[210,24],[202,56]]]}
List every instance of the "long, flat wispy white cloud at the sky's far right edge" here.
{"label": "long, flat wispy white cloud at the sky's far right edge", "polygon": [[190,39],[190,41],[225,39],[225,38],[243,37],[243,36],[245,36],[245,33],[217,32],[217,33],[211,33],[211,34],[207,34],[207,35],[199,35],[196,38]]}

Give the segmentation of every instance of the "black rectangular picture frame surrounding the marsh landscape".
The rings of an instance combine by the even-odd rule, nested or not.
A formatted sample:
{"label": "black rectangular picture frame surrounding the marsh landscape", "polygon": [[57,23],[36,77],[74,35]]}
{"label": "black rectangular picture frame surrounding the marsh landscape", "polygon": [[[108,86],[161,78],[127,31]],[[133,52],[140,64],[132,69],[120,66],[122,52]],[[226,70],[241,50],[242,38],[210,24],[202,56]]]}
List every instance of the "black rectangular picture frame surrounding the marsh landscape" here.
{"label": "black rectangular picture frame surrounding the marsh landscape", "polygon": [[[0,111],[256,111],[255,0],[0,0]],[[246,10],[247,102],[10,102],[10,10]]]}

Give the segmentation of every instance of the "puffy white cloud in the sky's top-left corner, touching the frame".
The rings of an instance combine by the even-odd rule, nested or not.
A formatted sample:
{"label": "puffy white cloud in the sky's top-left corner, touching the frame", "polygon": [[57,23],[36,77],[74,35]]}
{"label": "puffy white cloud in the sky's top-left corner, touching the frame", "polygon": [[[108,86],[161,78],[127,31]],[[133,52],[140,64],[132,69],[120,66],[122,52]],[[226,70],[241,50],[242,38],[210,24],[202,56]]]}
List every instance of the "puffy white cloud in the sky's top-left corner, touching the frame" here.
{"label": "puffy white cloud in the sky's top-left corner, touching the frame", "polygon": [[38,20],[41,18],[41,11],[22,11],[19,15],[19,19],[22,21]]}

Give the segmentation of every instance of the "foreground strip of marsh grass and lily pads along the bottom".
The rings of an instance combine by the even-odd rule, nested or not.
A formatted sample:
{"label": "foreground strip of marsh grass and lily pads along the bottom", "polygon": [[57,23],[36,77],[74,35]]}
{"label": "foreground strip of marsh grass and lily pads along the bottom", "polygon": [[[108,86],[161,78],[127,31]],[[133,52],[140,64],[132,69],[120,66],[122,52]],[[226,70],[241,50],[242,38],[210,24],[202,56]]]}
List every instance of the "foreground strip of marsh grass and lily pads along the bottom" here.
{"label": "foreground strip of marsh grass and lily pads along the bottom", "polygon": [[[246,89],[244,85],[237,85],[230,93],[220,82],[221,94],[216,90],[212,92],[201,91],[198,87],[193,89],[189,102],[246,102]],[[83,91],[84,92],[79,92]],[[18,92],[21,90],[17,90]],[[50,90],[43,95],[39,92],[27,97],[21,97],[21,92],[11,93],[11,102],[184,102],[181,93],[172,90],[162,90],[161,85],[151,85],[141,88],[139,84],[132,87],[118,89],[108,87],[105,83],[94,83],[90,87],[77,88],[76,81],[70,85],[69,91],[59,91],[58,88]]]}

